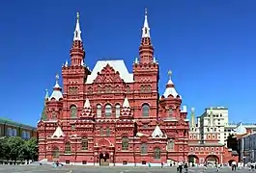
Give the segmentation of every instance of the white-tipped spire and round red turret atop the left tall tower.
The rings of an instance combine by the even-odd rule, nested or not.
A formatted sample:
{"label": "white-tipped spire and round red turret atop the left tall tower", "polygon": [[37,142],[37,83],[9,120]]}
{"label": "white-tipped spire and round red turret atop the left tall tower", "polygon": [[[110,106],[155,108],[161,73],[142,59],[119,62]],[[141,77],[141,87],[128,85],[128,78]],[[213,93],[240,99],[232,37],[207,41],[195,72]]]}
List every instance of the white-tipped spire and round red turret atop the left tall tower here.
{"label": "white-tipped spire and round red turret atop the left tall tower", "polygon": [[71,46],[71,66],[82,65],[85,56],[83,42],[81,38],[81,30],[79,24],[79,12],[76,13],[76,25],[73,32],[73,41]]}

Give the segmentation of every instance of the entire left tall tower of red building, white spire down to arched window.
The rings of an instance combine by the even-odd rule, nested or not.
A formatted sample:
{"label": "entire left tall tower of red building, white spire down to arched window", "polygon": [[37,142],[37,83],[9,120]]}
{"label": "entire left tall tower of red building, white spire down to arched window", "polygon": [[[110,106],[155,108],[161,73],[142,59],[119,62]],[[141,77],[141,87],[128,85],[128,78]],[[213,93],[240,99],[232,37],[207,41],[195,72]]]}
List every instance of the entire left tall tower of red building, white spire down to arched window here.
{"label": "entire left tall tower of red building, white spire down to arched window", "polygon": [[[63,118],[78,117],[83,111],[85,100],[84,83],[91,71],[84,62],[85,51],[81,37],[79,13],[76,13],[76,24],[71,44],[71,63],[62,66],[63,77]],[[75,113],[74,113],[75,112]]]}

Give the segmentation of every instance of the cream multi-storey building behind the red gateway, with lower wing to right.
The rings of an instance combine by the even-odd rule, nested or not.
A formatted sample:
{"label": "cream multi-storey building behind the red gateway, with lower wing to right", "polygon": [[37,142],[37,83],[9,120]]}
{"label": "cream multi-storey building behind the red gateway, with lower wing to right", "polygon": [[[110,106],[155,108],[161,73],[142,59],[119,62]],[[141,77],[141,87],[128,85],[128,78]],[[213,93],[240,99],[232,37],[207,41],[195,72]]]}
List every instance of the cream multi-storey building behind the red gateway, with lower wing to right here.
{"label": "cream multi-storey building behind the red gateway, with lower wing to right", "polygon": [[[211,116],[211,112],[213,116]],[[219,133],[218,142],[226,146],[228,136],[243,136],[256,132],[256,124],[229,123],[228,109],[224,107],[206,109],[204,113],[198,117],[198,121],[200,123],[199,131],[202,140],[207,138],[205,134],[212,125],[213,130]]]}

